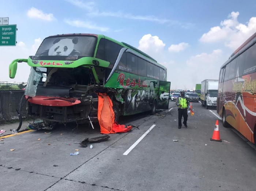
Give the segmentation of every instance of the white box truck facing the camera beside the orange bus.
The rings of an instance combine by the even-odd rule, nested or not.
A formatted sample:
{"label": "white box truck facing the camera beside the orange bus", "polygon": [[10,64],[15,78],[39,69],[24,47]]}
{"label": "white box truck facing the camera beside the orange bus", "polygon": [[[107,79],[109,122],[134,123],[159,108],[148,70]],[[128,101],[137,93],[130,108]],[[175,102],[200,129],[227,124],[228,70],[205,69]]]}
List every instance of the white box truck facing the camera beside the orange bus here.
{"label": "white box truck facing the camera beside the orange bus", "polygon": [[201,82],[202,106],[209,109],[209,106],[217,107],[218,79],[205,79]]}

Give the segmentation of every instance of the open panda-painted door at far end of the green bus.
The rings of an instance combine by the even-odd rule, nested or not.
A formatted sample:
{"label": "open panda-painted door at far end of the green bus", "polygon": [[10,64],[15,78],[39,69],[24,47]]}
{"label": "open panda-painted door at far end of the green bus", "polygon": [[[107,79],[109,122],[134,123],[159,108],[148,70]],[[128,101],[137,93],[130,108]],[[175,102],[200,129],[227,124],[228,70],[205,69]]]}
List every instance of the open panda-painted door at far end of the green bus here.
{"label": "open panda-painted door at far end of the green bus", "polygon": [[157,109],[169,109],[171,82],[159,81]]}

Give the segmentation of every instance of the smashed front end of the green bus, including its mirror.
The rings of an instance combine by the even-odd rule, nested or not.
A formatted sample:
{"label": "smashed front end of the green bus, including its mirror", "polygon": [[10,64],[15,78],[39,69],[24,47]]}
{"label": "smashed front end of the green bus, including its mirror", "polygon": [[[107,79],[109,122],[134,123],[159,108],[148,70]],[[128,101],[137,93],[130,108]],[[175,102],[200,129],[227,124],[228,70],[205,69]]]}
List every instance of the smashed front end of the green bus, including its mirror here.
{"label": "smashed front end of the green bus, including its mirror", "polygon": [[35,56],[11,63],[10,78],[15,77],[17,62],[31,66],[25,99],[28,114],[41,121],[37,128],[84,121],[89,115],[97,118],[95,92],[103,88],[103,71],[109,65],[94,58],[97,42],[97,35],[50,36]]}

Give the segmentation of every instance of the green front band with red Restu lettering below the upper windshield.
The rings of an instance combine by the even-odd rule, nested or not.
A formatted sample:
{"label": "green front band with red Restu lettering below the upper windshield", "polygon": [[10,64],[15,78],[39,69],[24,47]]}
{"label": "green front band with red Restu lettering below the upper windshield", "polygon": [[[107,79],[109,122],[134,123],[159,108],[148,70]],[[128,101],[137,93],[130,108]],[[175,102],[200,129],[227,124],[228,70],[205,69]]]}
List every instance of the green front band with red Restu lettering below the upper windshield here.
{"label": "green front band with red Restu lettering below the upper windshield", "polygon": [[[94,65],[93,61],[98,61],[99,65]],[[27,64],[31,67],[59,67],[59,68],[76,68],[83,65],[93,65],[108,67],[109,62],[93,57],[83,57],[75,61],[54,61],[54,60],[32,60],[28,59]]]}

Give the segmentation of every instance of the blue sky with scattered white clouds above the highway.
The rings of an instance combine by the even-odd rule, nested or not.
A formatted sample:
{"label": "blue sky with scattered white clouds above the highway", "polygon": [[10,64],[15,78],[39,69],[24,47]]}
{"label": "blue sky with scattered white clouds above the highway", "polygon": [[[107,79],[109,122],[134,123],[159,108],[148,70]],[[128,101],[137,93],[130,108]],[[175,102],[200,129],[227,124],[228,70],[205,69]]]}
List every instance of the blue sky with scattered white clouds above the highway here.
{"label": "blue sky with scattered white clouds above the highway", "polygon": [[17,45],[0,47],[0,81],[26,82],[30,68],[13,59],[34,55],[44,38],[103,34],[146,52],[167,67],[172,89],[218,79],[220,66],[256,32],[255,0],[0,0],[0,17],[17,24]]}

